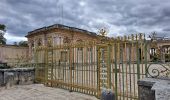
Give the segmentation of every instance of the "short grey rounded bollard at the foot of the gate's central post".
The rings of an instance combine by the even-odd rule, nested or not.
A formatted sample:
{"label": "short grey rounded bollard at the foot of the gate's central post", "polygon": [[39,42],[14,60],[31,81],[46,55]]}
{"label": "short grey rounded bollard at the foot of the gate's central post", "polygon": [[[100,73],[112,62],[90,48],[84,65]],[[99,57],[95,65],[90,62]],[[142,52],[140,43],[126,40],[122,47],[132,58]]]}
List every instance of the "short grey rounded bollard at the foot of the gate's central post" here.
{"label": "short grey rounded bollard at the foot of the gate's central post", "polygon": [[111,90],[103,89],[101,100],[116,100],[115,94]]}

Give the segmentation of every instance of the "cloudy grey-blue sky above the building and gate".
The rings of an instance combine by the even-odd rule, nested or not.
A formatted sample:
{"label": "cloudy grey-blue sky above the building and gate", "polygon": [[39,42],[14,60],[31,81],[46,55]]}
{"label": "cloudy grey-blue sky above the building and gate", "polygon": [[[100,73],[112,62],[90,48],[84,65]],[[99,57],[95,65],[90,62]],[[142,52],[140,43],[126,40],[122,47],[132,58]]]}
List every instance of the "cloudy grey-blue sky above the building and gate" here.
{"label": "cloudy grey-blue sky above the building and gate", "polygon": [[169,36],[170,0],[0,0],[0,23],[7,26],[8,43],[56,23],[93,32],[107,27],[109,36]]}

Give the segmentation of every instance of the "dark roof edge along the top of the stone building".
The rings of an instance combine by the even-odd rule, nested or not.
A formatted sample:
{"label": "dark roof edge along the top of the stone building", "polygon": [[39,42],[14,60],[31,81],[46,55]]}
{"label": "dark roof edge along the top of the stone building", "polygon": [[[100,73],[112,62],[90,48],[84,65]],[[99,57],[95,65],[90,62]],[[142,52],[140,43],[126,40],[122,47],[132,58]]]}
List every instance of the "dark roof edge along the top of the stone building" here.
{"label": "dark roof edge along the top of the stone building", "polygon": [[45,26],[45,27],[30,31],[30,32],[28,32],[26,37],[31,36],[33,34],[36,34],[38,32],[44,32],[44,31],[51,30],[51,29],[56,29],[56,28],[72,30],[72,31],[76,31],[76,32],[83,32],[83,33],[86,33],[88,35],[93,35],[93,36],[97,35],[94,32],[90,32],[90,31],[87,31],[87,30],[84,30],[84,29],[80,29],[80,28],[76,28],[76,27],[70,27],[70,26],[66,26],[66,25],[62,25],[62,24],[54,24],[54,25],[51,25],[51,26]]}

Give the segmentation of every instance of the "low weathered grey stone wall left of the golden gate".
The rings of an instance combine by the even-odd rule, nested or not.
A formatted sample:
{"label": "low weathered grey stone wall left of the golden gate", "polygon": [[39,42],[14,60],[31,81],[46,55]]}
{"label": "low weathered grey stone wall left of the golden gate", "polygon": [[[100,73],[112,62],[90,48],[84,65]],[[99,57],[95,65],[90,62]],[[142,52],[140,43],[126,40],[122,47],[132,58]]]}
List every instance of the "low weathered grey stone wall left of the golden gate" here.
{"label": "low weathered grey stone wall left of the golden gate", "polygon": [[34,68],[0,69],[0,86],[32,84],[34,79]]}

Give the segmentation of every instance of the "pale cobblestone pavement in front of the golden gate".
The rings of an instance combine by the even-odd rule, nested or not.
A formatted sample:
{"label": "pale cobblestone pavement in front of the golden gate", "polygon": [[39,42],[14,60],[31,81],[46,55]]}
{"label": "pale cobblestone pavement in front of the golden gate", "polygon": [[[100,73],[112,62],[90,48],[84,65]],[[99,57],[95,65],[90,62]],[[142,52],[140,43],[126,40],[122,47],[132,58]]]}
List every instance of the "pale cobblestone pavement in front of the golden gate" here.
{"label": "pale cobblestone pavement in front of the golden gate", "polygon": [[98,100],[68,90],[45,87],[42,84],[13,86],[9,89],[0,88],[0,100]]}

